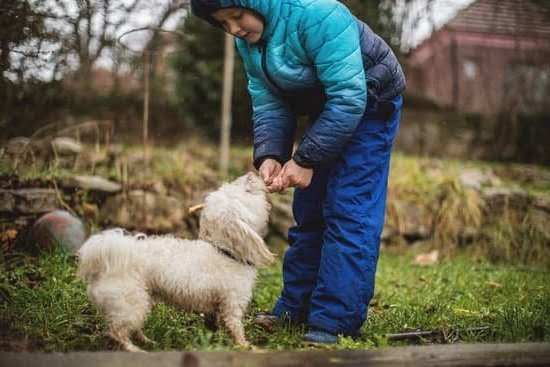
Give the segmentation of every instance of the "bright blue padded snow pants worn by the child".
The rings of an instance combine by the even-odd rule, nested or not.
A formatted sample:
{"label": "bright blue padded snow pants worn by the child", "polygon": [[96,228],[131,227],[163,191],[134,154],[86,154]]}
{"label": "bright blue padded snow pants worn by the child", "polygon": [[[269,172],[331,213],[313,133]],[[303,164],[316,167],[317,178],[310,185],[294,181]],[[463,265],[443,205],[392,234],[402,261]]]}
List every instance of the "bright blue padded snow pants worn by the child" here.
{"label": "bright blue padded snow pants worn by the child", "polygon": [[274,315],[332,334],[358,335],[374,294],[402,97],[392,104],[384,118],[367,108],[338,162],[316,170],[307,188],[295,189],[296,225],[288,232],[284,286]]}

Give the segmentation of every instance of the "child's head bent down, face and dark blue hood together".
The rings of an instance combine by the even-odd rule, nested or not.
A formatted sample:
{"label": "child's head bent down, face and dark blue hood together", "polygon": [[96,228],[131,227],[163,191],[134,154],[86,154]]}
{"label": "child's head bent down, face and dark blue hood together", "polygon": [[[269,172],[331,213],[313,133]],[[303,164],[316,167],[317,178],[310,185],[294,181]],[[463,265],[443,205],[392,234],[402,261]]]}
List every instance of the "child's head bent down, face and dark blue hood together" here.
{"label": "child's head bent down, face and dark blue hood together", "polygon": [[248,43],[257,43],[262,38],[264,17],[269,12],[266,5],[265,0],[191,0],[191,10],[196,16]]}

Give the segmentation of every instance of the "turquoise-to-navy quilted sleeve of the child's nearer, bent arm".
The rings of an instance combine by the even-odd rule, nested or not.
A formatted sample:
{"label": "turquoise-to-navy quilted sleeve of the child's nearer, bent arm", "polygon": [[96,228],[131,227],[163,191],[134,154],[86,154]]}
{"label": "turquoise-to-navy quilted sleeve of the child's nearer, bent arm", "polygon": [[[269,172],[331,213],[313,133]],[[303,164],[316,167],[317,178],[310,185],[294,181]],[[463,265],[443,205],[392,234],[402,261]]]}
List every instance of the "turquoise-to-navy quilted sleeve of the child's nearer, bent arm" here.
{"label": "turquoise-to-navy quilted sleeve of the child's nearer, bent arm", "polygon": [[299,32],[325,88],[323,111],[303,137],[294,160],[304,167],[329,164],[343,151],[367,102],[365,72],[355,18],[339,2],[314,1]]}

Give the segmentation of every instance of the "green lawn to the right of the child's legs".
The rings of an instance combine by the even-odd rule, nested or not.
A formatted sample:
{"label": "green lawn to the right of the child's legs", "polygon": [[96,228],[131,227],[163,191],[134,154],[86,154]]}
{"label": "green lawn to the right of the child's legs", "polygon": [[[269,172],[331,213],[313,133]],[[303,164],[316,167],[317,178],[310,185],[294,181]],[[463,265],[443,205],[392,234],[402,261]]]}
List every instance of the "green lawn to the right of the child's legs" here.
{"label": "green lawn to the right of the child's legs", "polygon": [[433,267],[408,265],[408,256],[387,255],[378,271],[378,292],[367,335],[405,331],[489,327],[468,341],[550,340],[547,269],[473,263],[465,256]]}

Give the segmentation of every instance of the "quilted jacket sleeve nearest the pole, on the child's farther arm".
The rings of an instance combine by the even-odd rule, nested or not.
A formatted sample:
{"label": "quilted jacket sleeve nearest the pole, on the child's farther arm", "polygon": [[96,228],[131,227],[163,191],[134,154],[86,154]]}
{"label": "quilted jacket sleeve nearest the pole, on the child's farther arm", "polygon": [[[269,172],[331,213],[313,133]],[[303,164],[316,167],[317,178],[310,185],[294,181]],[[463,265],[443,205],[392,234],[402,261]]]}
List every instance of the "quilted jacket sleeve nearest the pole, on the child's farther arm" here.
{"label": "quilted jacket sleeve nearest the pole, on the child's farther arm", "polygon": [[244,41],[237,40],[237,47],[248,76],[248,92],[252,98],[254,166],[259,168],[267,157],[284,164],[292,155],[295,117],[250,66],[248,47],[241,42]]}

